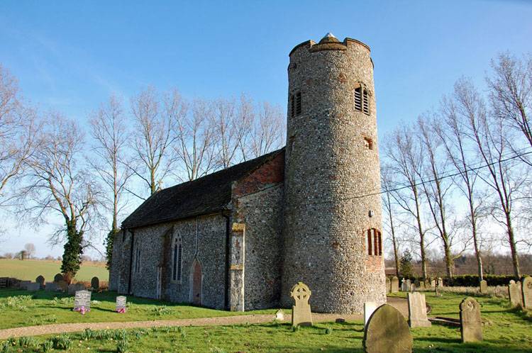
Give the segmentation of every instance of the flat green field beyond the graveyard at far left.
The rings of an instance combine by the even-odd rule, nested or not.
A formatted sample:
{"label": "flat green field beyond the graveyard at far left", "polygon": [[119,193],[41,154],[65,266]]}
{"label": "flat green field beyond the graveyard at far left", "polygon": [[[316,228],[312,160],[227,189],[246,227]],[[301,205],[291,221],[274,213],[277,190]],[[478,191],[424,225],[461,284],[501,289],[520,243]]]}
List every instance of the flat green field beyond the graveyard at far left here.
{"label": "flat green field beyond the graveyard at far left", "polygon": [[[0,277],[35,281],[37,276],[43,275],[46,281],[53,281],[55,274],[60,273],[60,267],[60,261],[0,259]],[[90,281],[94,276],[100,281],[107,281],[109,271],[104,264],[84,263],[76,274],[76,279]]]}

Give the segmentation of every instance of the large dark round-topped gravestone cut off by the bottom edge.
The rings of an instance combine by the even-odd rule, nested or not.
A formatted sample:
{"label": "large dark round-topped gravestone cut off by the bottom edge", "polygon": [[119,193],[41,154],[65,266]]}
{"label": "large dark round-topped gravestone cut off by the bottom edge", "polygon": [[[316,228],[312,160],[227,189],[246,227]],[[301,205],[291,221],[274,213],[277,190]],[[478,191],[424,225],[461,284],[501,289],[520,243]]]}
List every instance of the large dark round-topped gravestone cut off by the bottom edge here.
{"label": "large dark round-topped gravestone cut off by the bottom edge", "polygon": [[362,344],[365,353],[409,353],[413,341],[403,315],[393,306],[384,304],[373,312],[365,325]]}

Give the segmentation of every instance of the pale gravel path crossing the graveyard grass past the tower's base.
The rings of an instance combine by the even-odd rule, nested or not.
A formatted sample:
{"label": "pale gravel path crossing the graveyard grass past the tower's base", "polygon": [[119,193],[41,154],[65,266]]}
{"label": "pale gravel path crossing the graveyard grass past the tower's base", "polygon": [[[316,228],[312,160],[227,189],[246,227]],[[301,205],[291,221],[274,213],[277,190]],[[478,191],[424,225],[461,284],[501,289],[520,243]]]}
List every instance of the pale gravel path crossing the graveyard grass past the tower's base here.
{"label": "pale gravel path crossing the graveyard grass past the tower's base", "polygon": [[[403,315],[408,315],[406,300],[403,298],[388,298],[388,303],[401,311]],[[152,321],[126,321],[107,323],[65,323],[40,326],[16,327],[0,330],[0,340],[9,337],[54,335],[65,332],[79,332],[86,328],[91,330],[116,330],[122,328],[137,327],[162,327],[162,326],[215,326],[215,325],[238,325],[245,323],[270,323],[274,315],[235,315],[222,316],[218,318],[196,318],[182,320],[152,320]],[[340,314],[318,314],[313,313],[312,318],[315,323],[332,322],[337,318],[348,321],[363,320],[363,315],[340,315]],[[284,315],[284,321],[290,322],[291,315]]]}

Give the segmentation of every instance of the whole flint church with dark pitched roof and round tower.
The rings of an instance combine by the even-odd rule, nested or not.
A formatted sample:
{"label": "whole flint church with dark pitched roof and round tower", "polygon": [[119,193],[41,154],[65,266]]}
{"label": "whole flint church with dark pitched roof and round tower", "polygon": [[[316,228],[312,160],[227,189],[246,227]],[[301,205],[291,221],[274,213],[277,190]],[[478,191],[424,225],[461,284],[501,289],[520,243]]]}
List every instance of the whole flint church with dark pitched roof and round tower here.
{"label": "whole flint church with dark pitched roof and round tower", "polygon": [[223,310],[386,302],[370,47],[328,33],[289,53],[287,145],[157,191],[113,241],[109,288]]}

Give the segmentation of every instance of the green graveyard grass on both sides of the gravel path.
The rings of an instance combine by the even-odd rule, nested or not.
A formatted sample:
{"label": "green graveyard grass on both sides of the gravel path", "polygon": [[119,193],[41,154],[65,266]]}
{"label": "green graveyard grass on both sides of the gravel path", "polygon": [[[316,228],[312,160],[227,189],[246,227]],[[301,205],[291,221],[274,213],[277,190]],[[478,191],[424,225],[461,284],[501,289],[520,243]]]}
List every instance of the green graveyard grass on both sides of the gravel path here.
{"label": "green graveyard grass on both sides of the gravel path", "polygon": [[[6,294],[11,296],[27,293],[23,291],[0,291],[2,303]],[[154,315],[155,301],[128,298],[133,302],[130,312],[125,315],[111,313],[114,297],[95,293],[94,299],[101,301],[93,305],[92,312],[82,316],[72,313],[69,305],[55,303],[46,298],[47,293],[39,292],[32,300],[35,307],[24,312],[16,309],[0,309],[4,327],[31,325],[33,320],[46,320],[55,315],[57,323],[104,320],[145,320],[146,318],[192,318],[201,316],[231,315],[231,313],[191,306],[172,306],[175,310],[169,316]],[[43,296],[43,297],[40,297]],[[405,297],[404,293],[394,296]],[[429,316],[459,317],[458,305],[465,296],[457,293],[443,293],[437,298],[426,292],[426,301],[433,308]],[[112,302],[111,302],[112,299]],[[509,302],[501,298],[475,297],[481,305],[484,326],[484,341],[475,344],[460,343],[460,328],[432,325],[430,328],[414,328],[414,352],[482,352],[482,353],[524,353],[532,352],[532,317],[530,313],[509,307]],[[107,302],[106,302],[107,300]],[[101,309],[100,309],[101,308]],[[109,311],[106,311],[109,310]],[[264,310],[262,313],[273,310]],[[11,317],[18,317],[13,320]],[[29,318],[29,320],[28,320]],[[35,325],[35,324],[33,324]],[[104,330],[68,334],[72,342],[69,352],[117,352],[117,344],[127,342],[128,352],[362,352],[364,336],[362,321],[348,323],[319,323],[314,327],[299,327],[293,330],[289,323],[268,323],[257,325],[233,325],[218,327],[159,327],[157,329]],[[42,344],[57,336],[30,338],[33,344]],[[123,339],[126,337],[126,340]],[[40,352],[38,349],[21,348],[16,339],[13,352]],[[1,343],[1,342],[0,342]],[[1,347],[1,346],[0,346]],[[58,350],[55,349],[54,352]],[[60,352],[60,351],[59,351]]]}

